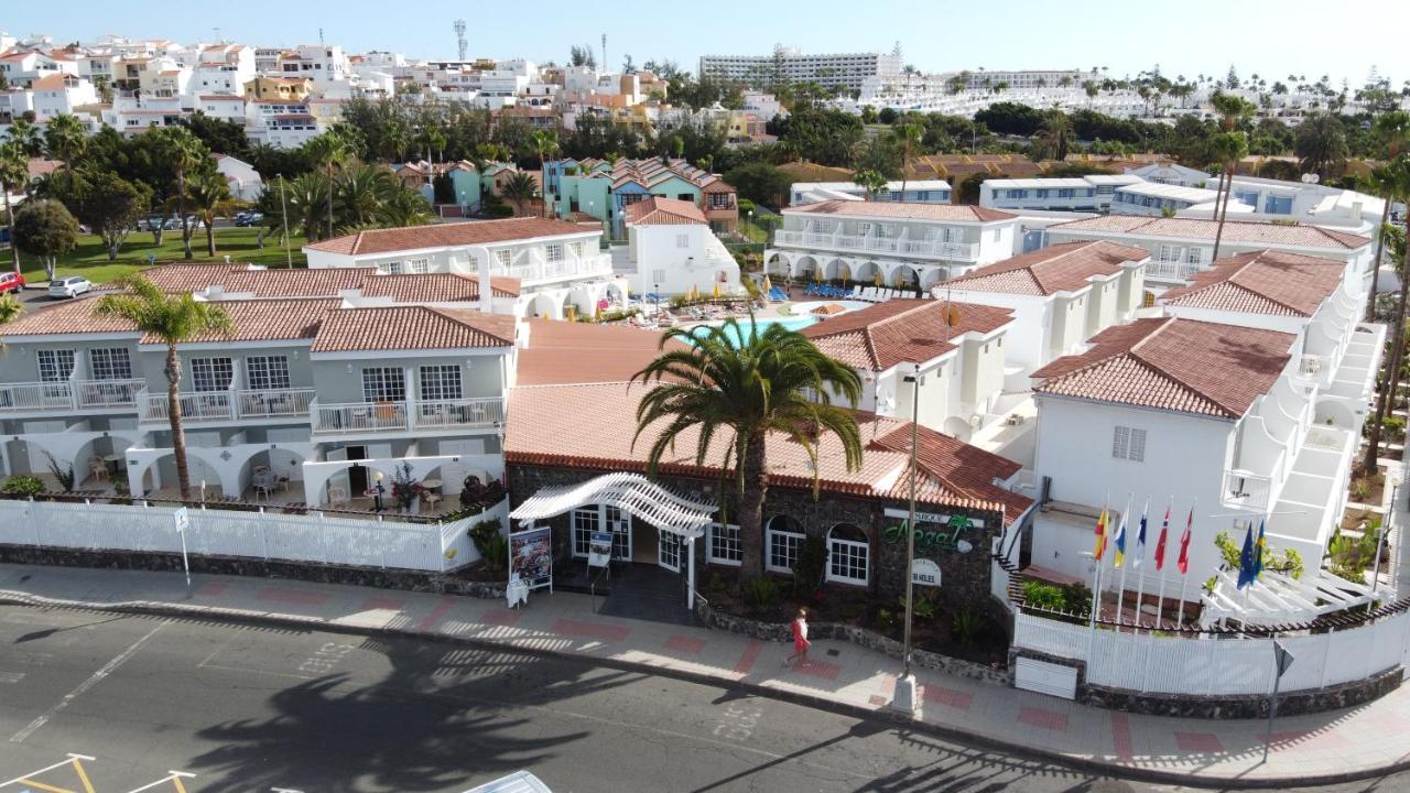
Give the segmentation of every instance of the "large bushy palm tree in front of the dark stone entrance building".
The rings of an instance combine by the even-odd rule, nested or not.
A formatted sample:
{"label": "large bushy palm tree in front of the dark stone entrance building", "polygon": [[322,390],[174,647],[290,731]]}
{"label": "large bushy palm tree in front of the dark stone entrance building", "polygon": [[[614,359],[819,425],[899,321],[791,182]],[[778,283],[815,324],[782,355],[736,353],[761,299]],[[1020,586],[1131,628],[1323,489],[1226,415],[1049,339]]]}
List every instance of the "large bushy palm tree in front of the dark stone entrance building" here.
{"label": "large bushy palm tree in front of the dark stone entrance building", "polygon": [[[664,422],[647,454],[649,476],[654,477],[667,450],[692,432],[699,433],[697,466],[708,463],[711,442],[718,435],[726,437],[718,464],[722,484],[730,473],[737,478],[740,576],[752,580],[763,574],[766,439],[787,436],[802,447],[812,461],[816,495],[818,440],[823,433],[842,442],[849,470],[862,466],[856,418],[832,405],[828,396],[839,394],[856,405],[862,380],[801,333],[780,325],[763,332],[757,325],[747,327],[733,319],[705,332],[673,327],[661,337],[664,351],[632,375],[632,382],[656,384],[637,405],[634,440]],[[670,341],[685,341],[687,347],[666,350]],[[809,398],[811,394],[821,401]]]}

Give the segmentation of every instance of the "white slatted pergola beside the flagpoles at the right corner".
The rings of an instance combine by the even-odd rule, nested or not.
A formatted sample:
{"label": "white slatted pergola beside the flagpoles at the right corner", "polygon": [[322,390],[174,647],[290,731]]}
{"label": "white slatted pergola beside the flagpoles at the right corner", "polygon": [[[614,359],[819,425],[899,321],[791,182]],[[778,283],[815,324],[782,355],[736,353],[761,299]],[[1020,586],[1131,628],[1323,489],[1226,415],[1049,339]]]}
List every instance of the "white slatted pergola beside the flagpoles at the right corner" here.
{"label": "white slatted pergola beside the flagpoles at the right corner", "polygon": [[1200,625],[1210,628],[1237,619],[1245,625],[1306,624],[1365,605],[1372,600],[1394,600],[1393,587],[1371,591],[1371,584],[1332,576],[1327,570],[1307,571],[1301,579],[1265,570],[1258,581],[1238,588],[1238,570],[1221,570],[1214,591],[1204,595]]}

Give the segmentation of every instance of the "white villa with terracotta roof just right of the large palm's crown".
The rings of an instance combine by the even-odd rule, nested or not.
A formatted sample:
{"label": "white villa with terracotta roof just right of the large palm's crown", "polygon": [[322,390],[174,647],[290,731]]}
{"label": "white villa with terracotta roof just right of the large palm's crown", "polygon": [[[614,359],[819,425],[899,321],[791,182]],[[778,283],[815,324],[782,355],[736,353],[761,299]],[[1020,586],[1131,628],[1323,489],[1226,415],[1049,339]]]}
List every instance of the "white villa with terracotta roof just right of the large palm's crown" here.
{"label": "white villa with terracotta roof just right of the large palm's crown", "polygon": [[[857,405],[959,440],[1000,419],[1004,341],[1012,315],[1001,308],[893,299],[808,326],[802,334],[862,378]],[[915,384],[919,373],[919,409]],[[835,399],[836,401],[836,399]]]}

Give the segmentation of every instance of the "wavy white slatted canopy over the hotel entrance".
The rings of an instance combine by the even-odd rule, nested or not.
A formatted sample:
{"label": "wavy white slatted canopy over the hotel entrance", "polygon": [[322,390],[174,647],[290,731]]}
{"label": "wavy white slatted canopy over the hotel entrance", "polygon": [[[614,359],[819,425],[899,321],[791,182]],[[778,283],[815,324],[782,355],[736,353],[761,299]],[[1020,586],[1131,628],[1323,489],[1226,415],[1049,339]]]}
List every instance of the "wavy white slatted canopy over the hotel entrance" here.
{"label": "wavy white slatted canopy over the hotel entrance", "polygon": [[540,488],[509,516],[544,521],[588,504],[606,504],[684,539],[705,533],[716,507],[675,495],[642,474],[603,474],[585,483]]}

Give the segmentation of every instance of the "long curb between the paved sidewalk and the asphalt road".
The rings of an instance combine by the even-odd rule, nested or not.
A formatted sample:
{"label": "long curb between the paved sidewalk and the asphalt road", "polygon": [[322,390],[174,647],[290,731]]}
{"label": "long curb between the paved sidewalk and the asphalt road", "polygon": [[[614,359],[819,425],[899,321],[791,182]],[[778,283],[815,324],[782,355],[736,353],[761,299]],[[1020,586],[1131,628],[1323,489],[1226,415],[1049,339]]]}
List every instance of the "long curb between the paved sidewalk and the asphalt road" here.
{"label": "long curb between the paved sidewalk and the asphalt road", "polygon": [[929,724],[884,708],[871,710],[862,706],[839,703],[836,700],[829,700],[826,697],[816,697],[797,691],[787,691],[781,689],[774,689],[771,686],[764,686],[761,683],[750,683],[747,680],[732,680],[729,677],[719,677],[704,672],[670,669],[664,666],[654,666],[644,662],[587,656],[574,652],[546,649],[546,648],[525,648],[515,645],[513,642],[479,639],[474,636],[453,636],[448,634],[433,634],[433,632],[429,634],[409,628],[375,628],[362,625],[347,625],[340,622],[327,622],[316,617],[296,617],[292,614],[258,612],[258,611],[237,611],[237,610],[204,607],[204,605],[180,605],[172,603],[152,603],[152,601],[85,603],[72,600],[55,600],[39,595],[31,595],[28,593],[18,593],[13,590],[0,591],[0,605],[100,611],[109,614],[130,614],[134,617],[169,617],[178,619],[203,619],[212,622],[250,625],[262,628],[299,628],[310,632],[320,631],[324,634],[338,634],[348,636],[376,636],[389,639],[412,639],[423,642],[430,641],[437,643],[468,646],[475,649],[501,650],[501,652],[508,649],[516,653],[530,655],[537,658],[551,658],[551,659],[572,660],[580,663],[587,662],[608,669],[616,669],[620,672],[647,673],[657,677],[681,680],[685,683],[697,683],[702,686],[713,686],[736,691],[744,691],[747,694],[766,697],[777,701],[799,704],[804,707],[822,710],[836,715],[845,715],[849,718],[857,718],[873,722],[883,722],[894,727],[902,727],[914,730],[916,732],[935,735],[946,741],[966,744],[969,746],[979,749],[1001,751],[1007,755],[1017,755],[1034,761],[1049,762],[1072,770],[1090,772],[1100,776],[1118,777],[1134,782],[1151,782],[1156,785],[1179,785],[1186,787],[1218,789],[1218,790],[1231,790],[1231,789],[1283,790],[1289,786],[1318,787],[1327,785],[1361,782],[1366,779],[1378,779],[1410,770],[1410,758],[1406,758],[1372,769],[1358,769],[1345,773],[1324,773],[1314,776],[1296,775],[1296,773],[1287,776],[1261,777],[1261,779],[1241,779],[1232,776],[1231,777],[1200,776],[1193,773],[1177,773],[1177,772],[1159,770],[1151,768],[1125,766],[1091,758],[1065,755],[1062,752],[1003,741],[998,738],[991,738],[988,735],[980,735],[977,732],[967,732],[952,727]]}

